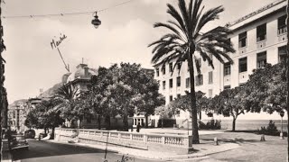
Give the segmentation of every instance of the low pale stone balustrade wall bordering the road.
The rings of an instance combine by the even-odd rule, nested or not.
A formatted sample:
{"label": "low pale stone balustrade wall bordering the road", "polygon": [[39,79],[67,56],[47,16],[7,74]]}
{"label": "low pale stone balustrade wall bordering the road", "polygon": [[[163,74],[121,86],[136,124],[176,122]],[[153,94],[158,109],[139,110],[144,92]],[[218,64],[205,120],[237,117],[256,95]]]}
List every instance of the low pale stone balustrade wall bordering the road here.
{"label": "low pale stone balustrade wall bordering the road", "polygon": [[[58,141],[75,139],[75,130],[56,129]],[[79,130],[80,143],[108,144],[130,148],[141,148],[155,151],[188,153],[191,148],[191,136],[169,134],[143,134],[136,132],[109,130]]]}

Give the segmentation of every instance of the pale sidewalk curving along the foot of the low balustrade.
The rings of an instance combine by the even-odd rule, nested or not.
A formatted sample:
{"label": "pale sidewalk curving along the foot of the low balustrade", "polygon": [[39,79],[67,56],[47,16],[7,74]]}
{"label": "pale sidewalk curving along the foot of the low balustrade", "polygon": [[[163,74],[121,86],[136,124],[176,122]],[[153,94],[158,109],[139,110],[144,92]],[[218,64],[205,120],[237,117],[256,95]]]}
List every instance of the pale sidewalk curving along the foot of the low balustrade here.
{"label": "pale sidewalk curving along the foot of the low balustrade", "polygon": [[[96,144],[84,144],[84,143],[67,143],[67,142],[59,142],[55,140],[48,140],[48,142],[55,142],[61,144],[68,144],[73,146],[87,147],[87,148],[98,148],[102,150],[106,150],[106,145],[96,145]],[[191,154],[176,154],[172,152],[157,152],[157,151],[149,151],[137,148],[126,148],[126,147],[117,147],[117,146],[107,146],[107,151],[116,152],[122,155],[129,155],[132,157],[140,157],[154,160],[172,160],[172,159],[187,159],[187,158],[195,158],[195,157],[204,157],[207,155],[224,152],[230,149],[238,148],[239,145],[236,143],[221,143],[218,146],[213,145],[212,142],[202,143],[193,145],[193,149],[195,150]]]}

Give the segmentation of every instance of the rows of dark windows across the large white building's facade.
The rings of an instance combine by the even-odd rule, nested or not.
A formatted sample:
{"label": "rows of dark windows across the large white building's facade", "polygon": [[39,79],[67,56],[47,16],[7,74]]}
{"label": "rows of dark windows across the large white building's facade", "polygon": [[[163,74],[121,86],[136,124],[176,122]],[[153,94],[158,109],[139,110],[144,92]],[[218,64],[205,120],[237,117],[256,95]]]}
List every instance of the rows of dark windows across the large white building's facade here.
{"label": "rows of dark windows across the large white building's facade", "polygon": [[[282,35],[284,33],[287,32],[287,27],[286,27],[286,15],[281,16],[278,18],[278,28],[277,28],[277,35]],[[230,41],[230,39],[228,39],[228,41]],[[256,43],[262,42],[262,41],[266,41],[266,23],[261,24],[259,26],[256,27]],[[247,48],[247,31],[244,31],[240,34],[238,34],[238,49],[245,49]],[[210,55],[210,58],[212,58],[212,56]],[[283,62],[285,61],[286,58],[286,46],[282,46],[278,48],[278,61],[279,62]],[[201,67],[201,59],[197,58],[196,60],[196,64]],[[266,65],[266,51],[262,51],[260,53],[256,53],[256,68],[260,68],[260,67],[265,67]],[[181,64],[177,63],[176,65],[177,70],[181,69]],[[172,62],[169,64],[169,71],[172,72],[173,70],[173,65]],[[187,68],[188,72],[189,72],[189,67]],[[238,59],[238,72],[239,73],[243,73],[243,72],[247,72],[247,57],[244,58],[239,58]],[[165,75],[165,65],[164,67],[162,67],[162,73],[163,76]],[[224,64],[224,76],[230,76],[231,74],[231,65],[229,63],[225,63]],[[160,69],[159,67],[156,67],[156,76],[160,76]],[[212,71],[210,71],[208,73],[208,77],[209,77],[209,83],[208,84],[212,84],[213,83],[213,73]],[[173,78],[171,78],[169,80],[169,87],[172,88],[172,80]],[[181,76],[177,76],[176,77],[176,86],[181,86]],[[165,89],[165,84],[166,82],[163,81],[163,90]],[[195,84],[196,85],[203,85],[203,75],[202,74],[198,74],[197,76],[195,76]],[[186,88],[190,87],[190,77],[186,78]],[[227,89],[230,87],[225,86],[224,89]]]}

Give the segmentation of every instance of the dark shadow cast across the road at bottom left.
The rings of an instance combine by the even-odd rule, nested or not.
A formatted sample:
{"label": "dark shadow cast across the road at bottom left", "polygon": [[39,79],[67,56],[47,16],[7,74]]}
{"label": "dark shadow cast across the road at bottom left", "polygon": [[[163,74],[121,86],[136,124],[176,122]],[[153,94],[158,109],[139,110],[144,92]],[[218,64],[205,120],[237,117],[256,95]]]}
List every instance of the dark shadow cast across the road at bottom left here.
{"label": "dark shadow cast across the road at bottom left", "polygon": [[17,149],[12,151],[13,159],[18,160],[73,154],[101,154],[101,156],[103,156],[105,153],[105,151],[96,148],[84,148],[81,146],[51,143],[42,140],[29,140],[29,145],[29,150]]}

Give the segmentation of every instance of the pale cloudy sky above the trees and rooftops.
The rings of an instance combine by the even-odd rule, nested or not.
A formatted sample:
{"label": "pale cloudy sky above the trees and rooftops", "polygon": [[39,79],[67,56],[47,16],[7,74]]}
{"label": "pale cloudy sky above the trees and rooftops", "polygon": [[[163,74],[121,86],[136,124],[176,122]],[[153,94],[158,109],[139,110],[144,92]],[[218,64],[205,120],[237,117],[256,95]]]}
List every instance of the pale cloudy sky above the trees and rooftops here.
{"label": "pale cloudy sky above the trees and rooftops", "polygon": [[[8,102],[35,97],[40,89],[47,90],[61,82],[61,76],[67,71],[58,51],[51,49],[51,40],[59,40],[61,34],[67,38],[59,49],[72,71],[82,58],[94,68],[120,62],[152,67],[152,52],[147,45],[165,33],[162,29],[154,29],[153,24],[170,19],[166,4],[175,5],[177,1],[131,0],[113,7],[126,1],[5,0],[3,16],[93,12],[107,8],[98,12],[102,22],[98,29],[91,24],[92,14],[3,19]],[[235,21],[274,1],[204,0],[205,10],[218,5],[225,7],[219,20],[209,23],[206,29]]]}

